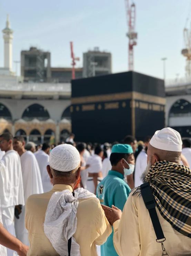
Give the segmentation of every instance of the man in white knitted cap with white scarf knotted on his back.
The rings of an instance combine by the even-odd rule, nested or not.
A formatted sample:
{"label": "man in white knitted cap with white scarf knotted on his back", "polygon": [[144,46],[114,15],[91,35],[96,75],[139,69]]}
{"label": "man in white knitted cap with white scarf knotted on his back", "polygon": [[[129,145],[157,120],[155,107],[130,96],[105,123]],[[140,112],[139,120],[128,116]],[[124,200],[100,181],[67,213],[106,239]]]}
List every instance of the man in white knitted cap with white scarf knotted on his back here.
{"label": "man in white knitted cap with white scarf knotted on his back", "polygon": [[78,150],[69,144],[52,149],[47,171],[53,189],[30,196],[26,203],[28,256],[96,256],[96,245],[102,245],[112,230],[96,196],[77,188]]}

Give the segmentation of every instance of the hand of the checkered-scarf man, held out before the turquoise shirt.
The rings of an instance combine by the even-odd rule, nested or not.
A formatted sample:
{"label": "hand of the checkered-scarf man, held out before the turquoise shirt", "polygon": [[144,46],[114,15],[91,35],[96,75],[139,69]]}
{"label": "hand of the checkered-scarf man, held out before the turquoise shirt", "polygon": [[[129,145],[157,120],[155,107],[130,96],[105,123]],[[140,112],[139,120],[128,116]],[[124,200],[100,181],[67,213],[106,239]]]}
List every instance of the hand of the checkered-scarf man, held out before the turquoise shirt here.
{"label": "hand of the checkered-scarf man, held out before the turquoise shirt", "polygon": [[117,207],[115,207],[114,205],[112,205],[112,208],[105,206],[103,204],[101,204],[101,206],[102,206],[102,208],[105,212],[105,216],[108,219],[111,226],[113,226],[113,223],[116,220],[121,219],[122,211],[120,209],[118,209]]}

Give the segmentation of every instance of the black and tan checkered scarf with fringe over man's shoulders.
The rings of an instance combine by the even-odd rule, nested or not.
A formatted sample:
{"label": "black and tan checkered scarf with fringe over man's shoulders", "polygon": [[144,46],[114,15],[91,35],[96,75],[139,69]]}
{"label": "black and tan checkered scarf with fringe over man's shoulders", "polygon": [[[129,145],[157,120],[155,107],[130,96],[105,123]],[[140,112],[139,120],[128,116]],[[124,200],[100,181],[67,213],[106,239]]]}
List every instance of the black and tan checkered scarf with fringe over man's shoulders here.
{"label": "black and tan checkered scarf with fringe over man's shoulders", "polygon": [[[145,178],[162,217],[191,238],[191,170],[168,161],[156,162]],[[140,187],[132,195],[140,193]]]}

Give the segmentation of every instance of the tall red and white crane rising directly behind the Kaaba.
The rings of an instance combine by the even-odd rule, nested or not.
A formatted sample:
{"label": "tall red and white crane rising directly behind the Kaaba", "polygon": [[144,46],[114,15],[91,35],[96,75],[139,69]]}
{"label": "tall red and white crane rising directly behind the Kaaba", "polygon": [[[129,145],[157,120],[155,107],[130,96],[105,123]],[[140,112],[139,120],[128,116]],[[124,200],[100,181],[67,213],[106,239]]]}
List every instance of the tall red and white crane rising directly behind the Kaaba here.
{"label": "tall red and white crane rising directly behind the Kaaba", "polygon": [[135,4],[132,3],[129,5],[129,0],[125,0],[126,7],[126,16],[127,16],[127,25],[128,25],[128,33],[126,34],[129,38],[129,70],[133,70],[133,46],[137,45],[137,33],[135,32]]}

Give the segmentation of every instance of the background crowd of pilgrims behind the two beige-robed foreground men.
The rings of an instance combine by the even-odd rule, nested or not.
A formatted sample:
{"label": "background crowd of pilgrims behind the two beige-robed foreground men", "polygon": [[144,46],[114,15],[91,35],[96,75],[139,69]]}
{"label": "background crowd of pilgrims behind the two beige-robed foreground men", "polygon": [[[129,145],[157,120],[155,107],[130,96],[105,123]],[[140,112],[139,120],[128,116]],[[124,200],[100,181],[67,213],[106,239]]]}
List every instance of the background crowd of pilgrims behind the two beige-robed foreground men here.
{"label": "background crowd of pilgrims behind the two beige-robed foreground men", "polygon": [[[141,176],[145,169],[147,169],[147,150],[149,142],[152,136],[147,136],[143,141],[138,141],[131,135],[125,136],[121,141],[114,141],[112,144],[105,142],[99,143],[84,143],[75,142],[75,135],[70,134],[65,142],[60,142],[58,145],[67,144],[74,146],[80,155],[80,187],[87,189],[90,193],[97,195],[101,203],[108,206],[112,206],[115,203],[121,211],[123,210],[124,204],[127,201],[129,192],[134,187],[139,187],[142,184]],[[11,141],[11,142],[10,142]],[[50,152],[56,148],[55,144],[50,145],[49,143],[43,143],[42,145],[36,145],[34,142],[25,143],[23,137],[16,136],[12,138],[10,133],[0,135],[0,160],[2,159],[3,164],[0,168],[4,168],[7,173],[10,173],[11,168],[14,166],[19,177],[19,165],[22,169],[22,177],[19,180],[16,177],[17,183],[22,186],[21,191],[18,192],[18,205],[15,203],[5,207],[1,200],[1,212],[2,221],[6,229],[13,235],[16,236],[24,245],[29,246],[28,231],[25,228],[25,206],[27,198],[33,194],[41,194],[49,192],[53,187],[52,178],[47,172],[47,165],[49,165]],[[4,152],[5,150],[6,152]],[[7,152],[12,153],[9,156]],[[20,160],[18,160],[17,152]],[[6,157],[10,157],[11,165],[6,162]],[[14,164],[14,161],[16,161]],[[191,140],[182,139],[182,153],[181,163],[184,166],[190,168],[191,166]],[[119,164],[120,163],[120,164]],[[16,167],[16,165],[18,165]],[[7,168],[7,169],[6,169]],[[112,173],[112,170],[115,173]],[[115,191],[113,197],[119,197],[117,203],[112,201],[112,192],[108,194],[108,203],[105,201],[107,193],[105,192],[104,197],[102,194],[103,187],[107,187],[107,179],[109,175],[116,175],[116,171],[123,175],[120,177],[120,186],[115,184],[112,186],[112,192]],[[8,177],[8,176],[7,176]],[[111,177],[111,176],[110,176]],[[117,176],[116,176],[117,177]],[[22,181],[23,180],[23,181]],[[109,178],[108,178],[109,180]],[[113,180],[109,181],[112,184]],[[13,182],[14,183],[14,182]],[[125,185],[126,184],[126,185]],[[118,184],[119,185],[119,184]],[[14,184],[12,184],[14,187]],[[119,187],[122,188],[120,191]],[[6,193],[6,188],[3,188]],[[3,189],[1,189],[3,191]],[[3,192],[4,192],[3,191]],[[2,193],[3,193],[2,192]],[[20,194],[19,194],[20,193]],[[9,197],[13,197],[14,192],[8,193]],[[5,200],[6,201],[6,200]],[[16,202],[15,201],[15,202]],[[109,203],[110,201],[110,203]],[[22,206],[23,205],[23,206]],[[15,217],[13,218],[13,215]],[[113,253],[114,252],[114,253]],[[8,249],[8,256],[14,255],[13,250]],[[24,254],[23,254],[24,255]],[[108,238],[107,242],[102,246],[101,255],[117,255],[113,246],[113,232]]]}

